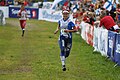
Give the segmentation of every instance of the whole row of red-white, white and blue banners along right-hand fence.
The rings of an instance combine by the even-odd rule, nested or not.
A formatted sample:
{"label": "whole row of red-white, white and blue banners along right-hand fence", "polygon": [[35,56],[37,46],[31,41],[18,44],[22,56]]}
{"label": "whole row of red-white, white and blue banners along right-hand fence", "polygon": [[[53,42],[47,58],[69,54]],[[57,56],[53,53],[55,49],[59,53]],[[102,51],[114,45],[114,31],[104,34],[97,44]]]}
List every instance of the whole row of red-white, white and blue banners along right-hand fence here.
{"label": "whole row of red-white, white and blue banners along right-hand fence", "polygon": [[88,44],[92,43],[94,51],[98,51],[102,56],[110,57],[117,65],[120,66],[120,34],[108,31],[103,27],[92,29],[88,23],[81,22],[81,37]]}

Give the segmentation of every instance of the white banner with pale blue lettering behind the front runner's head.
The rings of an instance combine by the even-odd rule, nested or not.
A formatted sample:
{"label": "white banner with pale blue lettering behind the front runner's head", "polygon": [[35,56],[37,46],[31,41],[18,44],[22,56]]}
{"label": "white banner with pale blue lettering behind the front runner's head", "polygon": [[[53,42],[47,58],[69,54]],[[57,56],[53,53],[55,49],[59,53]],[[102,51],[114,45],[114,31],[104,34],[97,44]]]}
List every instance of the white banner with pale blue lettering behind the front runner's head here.
{"label": "white banner with pale blue lettering behind the front runner's head", "polygon": [[50,22],[58,22],[62,18],[61,11],[54,11],[51,9],[39,9],[39,20],[46,20]]}

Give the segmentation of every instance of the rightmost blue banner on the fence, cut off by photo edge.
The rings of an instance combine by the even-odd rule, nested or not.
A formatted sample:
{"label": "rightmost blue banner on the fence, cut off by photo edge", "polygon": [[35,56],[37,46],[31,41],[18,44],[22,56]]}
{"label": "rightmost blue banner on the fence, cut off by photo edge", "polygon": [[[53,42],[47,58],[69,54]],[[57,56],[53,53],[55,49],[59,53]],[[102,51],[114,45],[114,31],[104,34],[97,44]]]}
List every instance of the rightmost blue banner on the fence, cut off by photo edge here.
{"label": "rightmost blue banner on the fence, cut off by photo edge", "polygon": [[118,65],[120,65],[120,34],[116,35],[116,45],[115,45],[114,61]]}

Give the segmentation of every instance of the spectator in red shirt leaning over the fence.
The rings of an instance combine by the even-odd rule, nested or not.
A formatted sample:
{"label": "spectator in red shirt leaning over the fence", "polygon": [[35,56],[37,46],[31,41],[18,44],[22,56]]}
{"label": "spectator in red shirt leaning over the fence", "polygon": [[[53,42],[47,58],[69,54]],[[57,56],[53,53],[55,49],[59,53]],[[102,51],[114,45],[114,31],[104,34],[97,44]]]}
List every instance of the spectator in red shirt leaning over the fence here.
{"label": "spectator in red shirt leaning over the fence", "polygon": [[106,11],[102,11],[100,18],[99,27],[104,26],[107,30],[115,32],[118,32],[117,30],[120,29],[118,25],[116,25],[114,19],[111,16],[106,15]]}

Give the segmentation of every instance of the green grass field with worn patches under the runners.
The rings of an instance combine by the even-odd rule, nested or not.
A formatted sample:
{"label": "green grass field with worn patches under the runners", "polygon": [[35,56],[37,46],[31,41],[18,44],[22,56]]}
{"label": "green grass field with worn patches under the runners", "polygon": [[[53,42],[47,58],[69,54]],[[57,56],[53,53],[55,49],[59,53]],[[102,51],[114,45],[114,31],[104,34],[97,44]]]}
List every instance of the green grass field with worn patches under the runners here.
{"label": "green grass field with worn patches under the runners", "polygon": [[120,67],[93,53],[78,34],[63,72],[57,23],[29,20],[21,37],[18,19],[6,19],[0,26],[0,80],[120,80]]}

